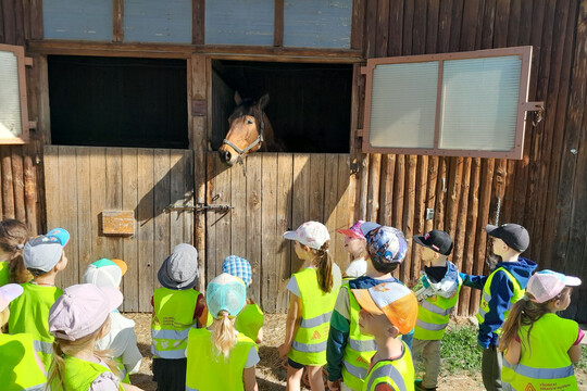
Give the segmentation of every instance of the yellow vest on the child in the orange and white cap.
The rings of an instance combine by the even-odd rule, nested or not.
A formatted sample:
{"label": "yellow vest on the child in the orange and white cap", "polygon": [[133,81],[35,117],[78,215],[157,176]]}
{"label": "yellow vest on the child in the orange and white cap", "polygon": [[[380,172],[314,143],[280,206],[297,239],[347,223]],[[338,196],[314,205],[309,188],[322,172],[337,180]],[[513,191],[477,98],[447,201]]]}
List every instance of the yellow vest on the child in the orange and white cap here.
{"label": "yellow vest on the child in the orange and white cap", "polygon": [[408,345],[403,344],[403,356],[394,361],[380,361],[371,368],[363,390],[373,391],[379,383],[387,383],[397,391],[414,391],[414,365]]}

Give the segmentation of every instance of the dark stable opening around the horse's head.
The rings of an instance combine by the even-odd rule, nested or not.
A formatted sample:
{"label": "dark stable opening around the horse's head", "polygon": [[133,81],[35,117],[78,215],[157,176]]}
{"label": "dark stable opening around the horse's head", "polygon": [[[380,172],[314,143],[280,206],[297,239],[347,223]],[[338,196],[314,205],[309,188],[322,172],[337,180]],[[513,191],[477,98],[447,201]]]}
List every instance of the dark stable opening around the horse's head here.
{"label": "dark stable opening around the horse's head", "polygon": [[235,91],[258,100],[288,152],[348,153],[352,65],[215,60],[212,63],[211,146],[217,150],[236,106]]}

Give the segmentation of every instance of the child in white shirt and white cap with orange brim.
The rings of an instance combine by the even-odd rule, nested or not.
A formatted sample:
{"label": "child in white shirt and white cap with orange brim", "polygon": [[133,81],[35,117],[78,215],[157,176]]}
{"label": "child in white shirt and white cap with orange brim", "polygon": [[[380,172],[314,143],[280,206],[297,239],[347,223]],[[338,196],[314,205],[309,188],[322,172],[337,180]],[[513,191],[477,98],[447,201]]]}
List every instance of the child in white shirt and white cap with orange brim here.
{"label": "child in white shirt and white cap with orange brim", "polygon": [[[120,290],[122,277],[128,266],[123,260],[101,258],[88,265],[84,274],[84,283],[93,283],[99,288]],[[123,316],[118,310],[110,313],[110,332],[96,342],[96,349],[110,351],[117,363],[123,382],[129,383],[129,375],[138,373],[142,355],[137,346],[135,321]]]}

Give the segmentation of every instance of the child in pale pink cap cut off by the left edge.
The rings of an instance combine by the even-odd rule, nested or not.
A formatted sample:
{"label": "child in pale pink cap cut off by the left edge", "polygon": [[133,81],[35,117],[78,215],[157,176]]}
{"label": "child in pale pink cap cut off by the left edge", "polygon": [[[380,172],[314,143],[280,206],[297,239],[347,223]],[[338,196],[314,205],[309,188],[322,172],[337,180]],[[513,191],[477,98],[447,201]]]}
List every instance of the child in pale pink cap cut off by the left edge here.
{"label": "child in pale pink cap cut off by the left edge", "polygon": [[[0,330],[8,323],[10,302],[21,294],[20,285],[0,287]],[[45,390],[45,367],[35,353],[30,335],[9,336],[0,331],[0,379],[4,391]]]}

